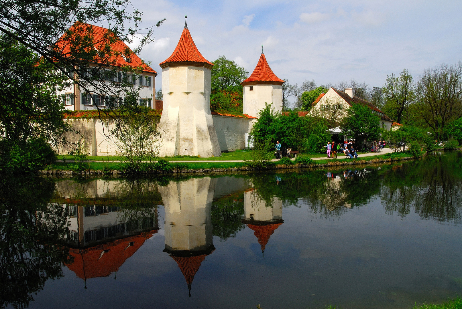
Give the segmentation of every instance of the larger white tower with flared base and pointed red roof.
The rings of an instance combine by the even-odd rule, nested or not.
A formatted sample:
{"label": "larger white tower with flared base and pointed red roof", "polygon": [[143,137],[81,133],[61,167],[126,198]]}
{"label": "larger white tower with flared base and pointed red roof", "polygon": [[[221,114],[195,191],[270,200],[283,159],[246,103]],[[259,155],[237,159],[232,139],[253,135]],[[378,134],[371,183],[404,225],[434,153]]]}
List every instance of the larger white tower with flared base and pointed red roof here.
{"label": "larger white tower with flared base and pointed red roof", "polygon": [[186,22],[175,51],[159,65],[164,95],[164,109],[158,125],[163,137],[160,156],[220,156],[210,113],[213,64],[196,48]]}

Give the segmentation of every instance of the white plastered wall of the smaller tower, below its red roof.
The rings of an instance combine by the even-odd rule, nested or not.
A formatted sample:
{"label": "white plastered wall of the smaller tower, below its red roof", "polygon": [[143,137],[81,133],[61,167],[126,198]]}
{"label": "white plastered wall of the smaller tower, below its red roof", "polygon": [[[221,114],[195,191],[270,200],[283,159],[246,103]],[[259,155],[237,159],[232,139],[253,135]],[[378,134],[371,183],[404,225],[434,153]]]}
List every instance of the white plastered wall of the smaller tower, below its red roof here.
{"label": "white plastered wall of the smaller tower, below its red roof", "polygon": [[258,112],[265,108],[265,103],[271,103],[274,112],[282,112],[282,86],[256,84],[243,87],[244,114],[258,117]]}

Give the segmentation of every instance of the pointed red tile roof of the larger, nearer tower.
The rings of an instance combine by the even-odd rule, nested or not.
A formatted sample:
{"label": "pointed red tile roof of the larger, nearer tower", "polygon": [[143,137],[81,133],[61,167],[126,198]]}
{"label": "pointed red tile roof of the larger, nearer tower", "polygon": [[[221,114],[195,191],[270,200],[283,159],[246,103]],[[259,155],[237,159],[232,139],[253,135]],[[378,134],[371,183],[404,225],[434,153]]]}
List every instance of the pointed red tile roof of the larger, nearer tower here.
{"label": "pointed red tile roof of the larger, nearer tower", "polygon": [[161,68],[164,68],[167,65],[178,62],[192,62],[193,64],[204,65],[209,68],[212,68],[213,66],[213,63],[205,59],[197,49],[196,44],[194,44],[193,38],[189,33],[186,22],[184,24],[180,41],[178,42],[178,45],[176,45],[175,50],[169,58],[159,63],[159,65]]}

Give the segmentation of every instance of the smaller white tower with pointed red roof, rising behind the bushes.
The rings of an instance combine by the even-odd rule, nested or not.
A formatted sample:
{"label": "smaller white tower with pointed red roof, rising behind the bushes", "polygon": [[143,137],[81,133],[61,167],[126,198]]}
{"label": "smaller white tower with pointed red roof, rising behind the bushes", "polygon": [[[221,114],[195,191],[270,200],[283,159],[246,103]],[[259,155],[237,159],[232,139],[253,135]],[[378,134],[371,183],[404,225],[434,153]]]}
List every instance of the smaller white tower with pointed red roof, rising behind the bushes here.
{"label": "smaller white tower with pointed red roof, rising behind the bushes", "polygon": [[241,83],[244,114],[258,117],[258,112],[265,108],[265,103],[271,103],[275,112],[281,112],[283,83],[284,81],[277,77],[269,67],[262,45],[260,60],[255,70]]}

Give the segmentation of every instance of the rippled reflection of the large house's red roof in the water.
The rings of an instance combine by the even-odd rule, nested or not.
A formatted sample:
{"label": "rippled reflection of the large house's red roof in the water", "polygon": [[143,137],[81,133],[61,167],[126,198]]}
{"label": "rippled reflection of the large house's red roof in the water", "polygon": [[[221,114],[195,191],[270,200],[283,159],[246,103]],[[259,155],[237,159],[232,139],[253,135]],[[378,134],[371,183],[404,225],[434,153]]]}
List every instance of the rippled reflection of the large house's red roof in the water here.
{"label": "rippled reflection of the large house's red roof in the water", "polygon": [[[136,250],[144,244],[145,240],[151,238],[154,233],[157,233],[157,230],[118,239],[95,247],[69,249],[73,262],[67,264],[67,267],[81,279],[107,277],[119,270],[119,267],[130,256],[133,256]],[[130,244],[132,242],[133,244]]]}

